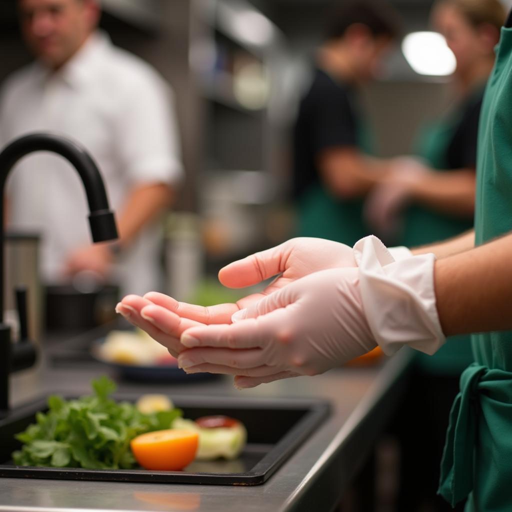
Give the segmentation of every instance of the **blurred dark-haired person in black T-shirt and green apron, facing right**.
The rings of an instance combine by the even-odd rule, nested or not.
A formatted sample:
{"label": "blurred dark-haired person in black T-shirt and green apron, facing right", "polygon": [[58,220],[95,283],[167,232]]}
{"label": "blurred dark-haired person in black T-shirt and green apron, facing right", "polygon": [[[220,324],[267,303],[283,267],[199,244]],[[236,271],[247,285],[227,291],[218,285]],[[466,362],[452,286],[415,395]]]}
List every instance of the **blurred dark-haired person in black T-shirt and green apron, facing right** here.
{"label": "blurred dark-haired person in black T-shirt and green apron, facing right", "polygon": [[347,3],[330,23],[294,126],[293,194],[298,236],[351,245],[369,234],[362,201],[385,173],[369,157],[357,89],[375,76],[398,28],[389,6],[369,0]]}

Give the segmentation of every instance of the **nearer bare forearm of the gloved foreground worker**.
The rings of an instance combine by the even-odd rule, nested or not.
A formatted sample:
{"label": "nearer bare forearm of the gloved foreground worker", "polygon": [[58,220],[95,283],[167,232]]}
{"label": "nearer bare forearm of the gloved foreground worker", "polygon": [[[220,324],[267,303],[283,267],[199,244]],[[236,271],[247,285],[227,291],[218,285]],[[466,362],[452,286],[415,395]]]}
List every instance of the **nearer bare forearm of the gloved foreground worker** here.
{"label": "nearer bare forearm of the gloved foreground worker", "polygon": [[446,336],[512,329],[512,234],[440,259],[435,290]]}

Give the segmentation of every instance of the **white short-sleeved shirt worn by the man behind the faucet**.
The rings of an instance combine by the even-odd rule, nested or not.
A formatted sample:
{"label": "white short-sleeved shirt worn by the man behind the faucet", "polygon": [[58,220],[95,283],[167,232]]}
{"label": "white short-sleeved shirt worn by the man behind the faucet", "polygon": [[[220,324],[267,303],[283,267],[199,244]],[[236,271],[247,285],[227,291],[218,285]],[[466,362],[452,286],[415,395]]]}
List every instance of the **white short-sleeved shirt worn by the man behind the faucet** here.
{"label": "white short-sleeved shirt worn by the man behind the faucet", "polygon": [[[0,95],[0,146],[30,132],[51,131],[83,145],[98,164],[111,208],[119,211],[140,184],[182,177],[170,90],[138,57],[95,33],[61,70],[39,63],[9,77]],[[61,157],[36,153],[8,182],[10,225],[42,234],[41,272],[59,282],[73,249],[91,242],[89,210],[78,174]],[[115,276],[123,293],[162,288],[159,233],[146,227],[124,251]]]}

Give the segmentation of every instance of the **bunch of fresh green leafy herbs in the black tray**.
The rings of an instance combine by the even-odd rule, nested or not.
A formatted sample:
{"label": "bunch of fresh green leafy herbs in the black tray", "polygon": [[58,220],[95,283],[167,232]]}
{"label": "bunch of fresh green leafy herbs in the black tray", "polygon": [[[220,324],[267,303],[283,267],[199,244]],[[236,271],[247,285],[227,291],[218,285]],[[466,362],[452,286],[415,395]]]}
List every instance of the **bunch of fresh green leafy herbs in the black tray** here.
{"label": "bunch of fresh green leafy herbs in the black tray", "polygon": [[77,400],[48,399],[48,412],[16,435],[22,449],[12,454],[23,466],[130,469],[136,466],[130,441],[145,432],[171,428],[179,409],[142,414],[130,402],[110,395],[116,385],[107,377],[92,382],[94,394]]}

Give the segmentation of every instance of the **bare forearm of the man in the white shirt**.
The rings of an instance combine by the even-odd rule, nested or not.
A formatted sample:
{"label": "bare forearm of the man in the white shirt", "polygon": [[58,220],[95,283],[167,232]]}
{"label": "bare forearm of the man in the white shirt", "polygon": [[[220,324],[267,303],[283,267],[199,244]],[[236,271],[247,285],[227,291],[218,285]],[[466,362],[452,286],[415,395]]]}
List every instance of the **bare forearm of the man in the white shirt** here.
{"label": "bare forearm of the man in the white shirt", "polygon": [[173,189],[163,183],[134,188],[118,215],[120,244],[129,245],[144,225],[172,204],[173,197]]}

